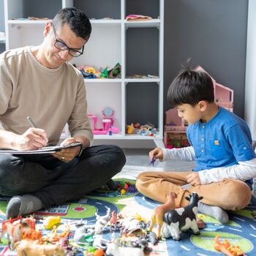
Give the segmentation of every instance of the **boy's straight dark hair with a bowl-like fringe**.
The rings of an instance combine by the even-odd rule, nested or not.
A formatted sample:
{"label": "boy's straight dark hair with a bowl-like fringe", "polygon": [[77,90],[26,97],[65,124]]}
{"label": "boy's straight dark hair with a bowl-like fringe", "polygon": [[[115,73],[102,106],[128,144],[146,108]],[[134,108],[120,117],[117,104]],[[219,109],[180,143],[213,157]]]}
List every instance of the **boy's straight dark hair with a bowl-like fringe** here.
{"label": "boy's straight dark hair with a bowl-like fringe", "polygon": [[210,75],[195,69],[182,70],[171,83],[167,99],[175,108],[178,105],[197,105],[200,100],[214,102],[214,84]]}

